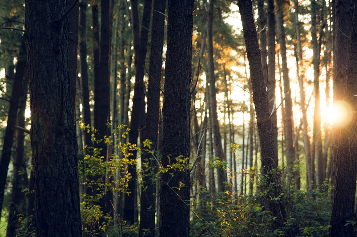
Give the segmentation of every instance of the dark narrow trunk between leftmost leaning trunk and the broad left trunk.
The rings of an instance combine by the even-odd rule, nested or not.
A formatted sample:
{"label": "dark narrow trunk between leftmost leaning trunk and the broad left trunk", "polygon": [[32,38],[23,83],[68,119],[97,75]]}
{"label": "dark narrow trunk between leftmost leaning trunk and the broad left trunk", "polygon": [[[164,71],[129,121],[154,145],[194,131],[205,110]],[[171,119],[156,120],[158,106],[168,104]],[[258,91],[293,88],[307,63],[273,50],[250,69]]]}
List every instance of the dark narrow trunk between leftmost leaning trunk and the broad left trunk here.
{"label": "dark narrow trunk between leftmost leaning trunk and the broad left trunk", "polygon": [[[26,48],[25,42],[21,45],[20,65],[26,66]],[[22,60],[22,62],[21,62]],[[19,64],[19,61],[17,61]],[[24,68],[25,69],[25,68]],[[24,70],[22,69],[22,70]],[[16,67],[17,70],[21,70]],[[16,77],[15,77],[16,79]],[[19,88],[16,88],[16,93],[19,96],[19,112],[17,113],[17,126],[25,127],[25,109],[26,109],[26,95],[27,95],[27,78],[21,79],[22,83]],[[16,236],[16,229],[18,228],[18,215],[25,214],[26,200],[24,192],[21,190],[27,188],[29,180],[26,173],[26,163],[24,160],[24,138],[25,134],[21,130],[16,130],[16,156],[14,161],[12,188],[11,188],[11,201],[9,207],[9,219],[7,222],[6,236]],[[19,174],[21,172],[21,174]]]}

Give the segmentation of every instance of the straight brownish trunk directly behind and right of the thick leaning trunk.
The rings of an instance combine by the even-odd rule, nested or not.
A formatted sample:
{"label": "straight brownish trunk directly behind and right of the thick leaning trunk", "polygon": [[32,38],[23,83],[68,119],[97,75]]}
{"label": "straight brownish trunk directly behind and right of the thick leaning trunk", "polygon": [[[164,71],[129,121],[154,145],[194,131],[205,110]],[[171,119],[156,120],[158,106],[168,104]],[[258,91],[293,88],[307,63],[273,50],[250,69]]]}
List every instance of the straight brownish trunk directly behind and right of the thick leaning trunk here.
{"label": "straight brownish trunk directly behind and right of the thick leaning trunk", "polygon": [[[274,103],[276,101],[275,98],[275,87],[276,87],[276,79],[275,79],[275,10],[274,10],[274,0],[267,0],[267,57],[268,57],[268,101],[270,111],[273,110]],[[277,118],[276,113],[271,116],[271,122],[273,127],[273,139],[276,157],[278,157],[278,126],[277,126]]]}

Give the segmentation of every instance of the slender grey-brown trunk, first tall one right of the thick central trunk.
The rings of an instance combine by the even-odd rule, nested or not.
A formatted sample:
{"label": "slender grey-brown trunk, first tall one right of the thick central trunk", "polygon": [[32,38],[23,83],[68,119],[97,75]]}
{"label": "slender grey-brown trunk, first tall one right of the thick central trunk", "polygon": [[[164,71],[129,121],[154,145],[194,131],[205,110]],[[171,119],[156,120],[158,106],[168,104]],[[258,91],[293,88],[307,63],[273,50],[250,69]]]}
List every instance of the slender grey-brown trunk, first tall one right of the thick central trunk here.
{"label": "slender grey-brown trunk, first tall one right of the thick central trunk", "polygon": [[[218,124],[217,117],[217,101],[216,101],[216,78],[215,78],[215,64],[213,62],[213,33],[212,33],[212,24],[213,24],[213,10],[214,10],[214,0],[210,1],[210,8],[208,12],[207,18],[207,57],[208,57],[208,80],[210,81],[210,117],[212,116],[213,122],[213,139],[215,146],[215,157],[218,157],[223,162],[226,161],[226,158],[223,153],[222,141],[220,128]],[[219,168],[217,170],[218,173],[218,191],[223,192],[228,189],[228,187],[224,184],[227,182],[227,175],[225,168]]]}

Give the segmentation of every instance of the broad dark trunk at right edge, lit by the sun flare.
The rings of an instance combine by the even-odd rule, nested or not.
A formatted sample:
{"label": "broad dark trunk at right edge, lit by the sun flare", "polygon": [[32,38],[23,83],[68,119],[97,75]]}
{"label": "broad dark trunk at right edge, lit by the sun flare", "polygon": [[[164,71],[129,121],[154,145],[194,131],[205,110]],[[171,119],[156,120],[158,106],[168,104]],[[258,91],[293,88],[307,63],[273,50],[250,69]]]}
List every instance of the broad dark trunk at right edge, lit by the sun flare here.
{"label": "broad dark trunk at right edge, lit by the sun flare", "polygon": [[[355,7],[353,7],[353,4],[355,5]],[[341,96],[337,97],[341,99],[340,103],[344,103],[346,105],[345,109],[348,114],[348,119],[345,119],[343,124],[341,123],[338,125],[333,125],[336,132],[335,135],[338,137],[338,140],[335,141],[335,144],[337,146],[337,151],[335,153],[336,176],[334,180],[335,189],[333,192],[333,206],[330,222],[331,237],[353,236],[353,226],[346,225],[346,221],[353,220],[355,216],[354,209],[357,174],[357,140],[356,138],[354,138],[357,120],[357,98],[356,96],[354,96],[356,94],[355,92],[357,88],[357,33],[354,30],[357,27],[356,10],[356,1],[336,1],[335,24],[336,27],[339,27],[341,32],[337,33],[338,30],[336,30],[335,42],[337,43],[337,41],[339,40],[345,42],[343,46],[348,51],[348,60],[347,62],[343,60],[343,58],[346,56],[345,54],[343,54],[345,53],[345,51],[337,51],[337,49],[342,45],[340,45],[339,43],[335,43],[334,57],[336,58],[336,60],[338,59],[337,62],[346,63],[340,65],[336,64],[335,62],[335,68],[341,68],[342,66],[346,65],[346,78],[336,78],[336,76],[341,74],[334,74],[334,90],[336,83],[343,83],[344,90],[341,85],[336,85],[336,93],[338,96]],[[352,16],[353,20],[351,21]],[[350,27],[345,28],[346,25],[349,25]],[[348,40],[347,35],[350,35],[350,40]],[[335,69],[335,71],[338,72],[337,69]],[[342,71],[340,70],[339,73],[341,72]]]}

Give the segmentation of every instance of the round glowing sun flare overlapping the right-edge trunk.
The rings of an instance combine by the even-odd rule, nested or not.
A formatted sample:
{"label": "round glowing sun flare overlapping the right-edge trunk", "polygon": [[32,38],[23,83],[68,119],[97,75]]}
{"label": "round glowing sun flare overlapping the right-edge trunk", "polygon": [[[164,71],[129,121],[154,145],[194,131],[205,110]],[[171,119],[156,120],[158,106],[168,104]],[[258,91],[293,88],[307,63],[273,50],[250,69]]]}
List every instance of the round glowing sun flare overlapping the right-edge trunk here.
{"label": "round glowing sun flare overlapping the right-edge trunk", "polygon": [[326,117],[331,125],[345,125],[352,119],[352,108],[345,101],[334,102],[333,106],[326,111]]}

